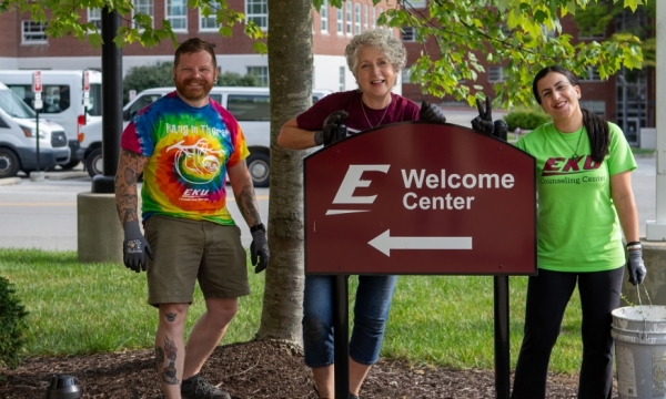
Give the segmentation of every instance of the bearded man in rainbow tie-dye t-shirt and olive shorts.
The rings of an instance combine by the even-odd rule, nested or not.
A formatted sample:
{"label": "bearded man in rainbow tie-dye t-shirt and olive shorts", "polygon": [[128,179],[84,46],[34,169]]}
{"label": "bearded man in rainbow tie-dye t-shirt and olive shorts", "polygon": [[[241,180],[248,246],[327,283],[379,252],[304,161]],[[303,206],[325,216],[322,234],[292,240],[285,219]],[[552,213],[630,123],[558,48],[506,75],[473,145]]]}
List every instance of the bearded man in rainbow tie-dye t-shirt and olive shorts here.
{"label": "bearded man in rainbow tie-dye t-shirt and olive shorts", "polygon": [[[243,132],[229,111],[209,99],[218,79],[210,43],[194,38],[175,51],[176,91],[142,109],[124,130],[115,177],[115,203],[124,231],[123,259],[145,270],[149,304],[159,308],[155,335],[158,377],[167,398],[230,399],[200,377],[250,294],[241,231],[226,208],[225,176],[252,233],[255,272],[269,262]],[[137,182],[143,173],[141,211]],[[188,340],[183,330],[195,282],[206,311]]]}

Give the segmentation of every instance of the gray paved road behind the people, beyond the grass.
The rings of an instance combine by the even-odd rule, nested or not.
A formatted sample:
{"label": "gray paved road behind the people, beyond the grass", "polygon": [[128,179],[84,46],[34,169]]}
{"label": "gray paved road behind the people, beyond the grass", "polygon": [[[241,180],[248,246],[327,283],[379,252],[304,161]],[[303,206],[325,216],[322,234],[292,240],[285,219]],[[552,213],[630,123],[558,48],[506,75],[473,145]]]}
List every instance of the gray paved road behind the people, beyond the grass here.
{"label": "gray paved road behind the people, beyond the grass", "polygon": [[[638,205],[640,235],[645,236],[645,222],[656,218],[656,158],[638,157],[638,168],[633,173],[633,186]],[[50,178],[20,184],[2,185],[0,181],[0,247],[77,249],[77,195],[90,192],[91,181],[82,171],[49,172]],[[67,177],[67,178],[61,178]],[[269,190],[256,188],[259,208],[263,221],[269,216]],[[238,207],[230,211],[242,221]],[[249,229],[243,227],[242,241],[250,245]]]}

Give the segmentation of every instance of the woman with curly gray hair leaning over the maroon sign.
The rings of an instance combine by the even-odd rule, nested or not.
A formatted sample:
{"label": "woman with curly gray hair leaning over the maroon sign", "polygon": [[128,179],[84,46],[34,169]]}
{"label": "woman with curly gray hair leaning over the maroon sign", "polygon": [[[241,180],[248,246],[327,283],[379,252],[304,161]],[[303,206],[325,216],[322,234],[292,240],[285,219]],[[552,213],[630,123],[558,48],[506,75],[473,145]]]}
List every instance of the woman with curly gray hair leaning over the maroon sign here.
{"label": "woman with curly gray hair leaning over the maroon sign", "polygon": [[[392,92],[406,62],[405,47],[392,31],[371,30],[355,35],[345,58],[359,89],[330,94],[287,121],[278,137],[282,147],[329,145],[340,139],[335,134],[340,123],[356,133],[403,121],[446,121],[437,105],[424,102],[420,109]],[[379,360],[396,280],[397,276],[359,276],[350,340],[350,398],[359,398],[365,376]],[[334,282],[333,276],[305,276],[303,347],[320,398],[334,397]]]}

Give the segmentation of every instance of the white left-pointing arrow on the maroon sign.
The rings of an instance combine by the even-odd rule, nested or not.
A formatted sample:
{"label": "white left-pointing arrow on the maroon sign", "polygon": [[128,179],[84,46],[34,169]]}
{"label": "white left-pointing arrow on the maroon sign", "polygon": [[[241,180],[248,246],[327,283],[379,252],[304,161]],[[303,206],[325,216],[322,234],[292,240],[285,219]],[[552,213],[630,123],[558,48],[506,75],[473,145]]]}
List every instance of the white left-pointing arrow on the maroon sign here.
{"label": "white left-pointing arrow on the maroon sign", "polygon": [[392,237],[387,229],[367,244],[390,257],[391,249],[472,249],[472,237]]}

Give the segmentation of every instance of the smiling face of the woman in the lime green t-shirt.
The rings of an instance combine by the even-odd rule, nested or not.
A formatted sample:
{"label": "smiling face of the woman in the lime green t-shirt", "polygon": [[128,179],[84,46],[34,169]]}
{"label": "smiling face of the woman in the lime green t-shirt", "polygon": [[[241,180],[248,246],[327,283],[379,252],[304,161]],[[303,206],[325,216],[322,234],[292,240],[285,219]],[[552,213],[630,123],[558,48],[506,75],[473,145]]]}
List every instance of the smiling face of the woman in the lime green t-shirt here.
{"label": "smiling face of the woman in the lime green t-shirt", "polygon": [[553,117],[555,125],[573,117],[582,117],[578,104],[581,88],[573,85],[564,74],[549,72],[536,82],[536,92],[542,109]]}

